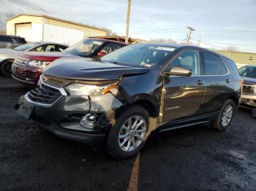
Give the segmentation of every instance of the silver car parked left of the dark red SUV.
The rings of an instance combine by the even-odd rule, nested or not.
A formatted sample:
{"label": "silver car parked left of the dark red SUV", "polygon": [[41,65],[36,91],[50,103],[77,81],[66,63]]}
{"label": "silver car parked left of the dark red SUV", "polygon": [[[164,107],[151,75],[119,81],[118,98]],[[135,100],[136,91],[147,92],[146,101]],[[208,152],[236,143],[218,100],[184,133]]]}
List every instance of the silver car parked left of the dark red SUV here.
{"label": "silver car parked left of the dark red SUV", "polygon": [[4,77],[11,77],[12,62],[21,52],[61,52],[66,48],[64,44],[53,42],[31,42],[13,49],[0,49],[0,73]]}

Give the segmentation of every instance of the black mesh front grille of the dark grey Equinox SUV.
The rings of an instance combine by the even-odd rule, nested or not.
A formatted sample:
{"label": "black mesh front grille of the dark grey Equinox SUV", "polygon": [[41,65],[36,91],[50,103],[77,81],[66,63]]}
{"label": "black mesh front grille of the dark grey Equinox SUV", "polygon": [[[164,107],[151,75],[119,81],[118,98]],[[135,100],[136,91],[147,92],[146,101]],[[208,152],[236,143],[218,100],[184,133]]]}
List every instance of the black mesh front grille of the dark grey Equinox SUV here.
{"label": "black mesh front grille of the dark grey Equinox SUV", "polygon": [[31,90],[27,96],[34,103],[51,105],[61,97],[61,92],[56,88],[40,83],[39,87]]}

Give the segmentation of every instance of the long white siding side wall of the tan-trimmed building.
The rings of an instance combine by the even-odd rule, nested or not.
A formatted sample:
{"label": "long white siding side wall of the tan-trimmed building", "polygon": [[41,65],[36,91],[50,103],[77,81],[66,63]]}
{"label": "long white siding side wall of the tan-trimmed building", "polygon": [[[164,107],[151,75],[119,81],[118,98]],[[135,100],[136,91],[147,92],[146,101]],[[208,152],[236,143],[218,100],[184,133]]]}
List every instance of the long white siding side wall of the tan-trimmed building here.
{"label": "long white siding side wall of the tan-trimmed building", "polygon": [[43,38],[45,42],[58,42],[61,44],[74,44],[83,39],[84,32],[61,26],[53,26],[49,24],[43,25]]}

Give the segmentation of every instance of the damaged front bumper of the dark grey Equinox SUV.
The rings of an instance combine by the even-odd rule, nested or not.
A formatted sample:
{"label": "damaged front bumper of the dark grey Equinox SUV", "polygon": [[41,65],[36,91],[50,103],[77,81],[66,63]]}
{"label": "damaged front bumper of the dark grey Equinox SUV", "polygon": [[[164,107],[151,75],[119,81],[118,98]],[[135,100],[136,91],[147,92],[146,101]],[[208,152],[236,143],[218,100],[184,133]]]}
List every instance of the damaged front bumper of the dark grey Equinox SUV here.
{"label": "damaged front bumper of the dark grey Equinox SUV", "polygon": [[121,106],[121,102],[111,93],[61,95],[50,106],[33,103],[26,94],[20,97],[18,112],[57,136],[99,147],[105,141],[105,135],[116,117],[116,110]]}

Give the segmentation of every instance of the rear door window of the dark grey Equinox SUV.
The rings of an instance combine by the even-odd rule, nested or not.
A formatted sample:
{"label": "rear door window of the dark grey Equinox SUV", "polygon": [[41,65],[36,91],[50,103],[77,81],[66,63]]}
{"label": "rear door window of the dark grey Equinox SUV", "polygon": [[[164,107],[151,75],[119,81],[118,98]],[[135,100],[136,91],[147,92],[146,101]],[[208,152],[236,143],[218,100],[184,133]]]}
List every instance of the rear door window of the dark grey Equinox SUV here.
{"label": "rear door window of the dark grey Equinox SUV", "polygon": [[203,52],[203,74],[220,75],[219,57],[208,52]]}

